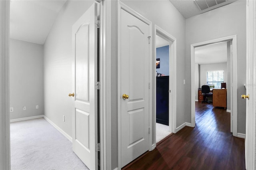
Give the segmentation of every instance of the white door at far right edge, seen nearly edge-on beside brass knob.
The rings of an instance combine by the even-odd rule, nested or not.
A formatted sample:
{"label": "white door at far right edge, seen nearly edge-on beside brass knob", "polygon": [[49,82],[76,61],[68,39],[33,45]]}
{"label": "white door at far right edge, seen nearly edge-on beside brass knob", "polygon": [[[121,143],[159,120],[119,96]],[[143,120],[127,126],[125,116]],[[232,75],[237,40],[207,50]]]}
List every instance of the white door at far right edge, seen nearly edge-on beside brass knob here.
{"label": "white door at far right edge, seen nearly edge-on beside brass knob", "polygon": [[255,167],[255,117],[256,117],[256,1],[246,4],[246,138],[245,166],[247,170]]}

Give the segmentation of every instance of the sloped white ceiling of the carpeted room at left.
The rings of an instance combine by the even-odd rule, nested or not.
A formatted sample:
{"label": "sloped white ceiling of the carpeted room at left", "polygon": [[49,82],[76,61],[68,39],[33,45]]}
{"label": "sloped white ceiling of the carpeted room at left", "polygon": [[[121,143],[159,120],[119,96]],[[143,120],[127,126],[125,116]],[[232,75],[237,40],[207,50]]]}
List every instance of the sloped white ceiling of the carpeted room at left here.
{"label": "sloped white ceiling of the carpeted room at left", "polygon": [[12,0],[10,38],[44,44],[66,0]]}

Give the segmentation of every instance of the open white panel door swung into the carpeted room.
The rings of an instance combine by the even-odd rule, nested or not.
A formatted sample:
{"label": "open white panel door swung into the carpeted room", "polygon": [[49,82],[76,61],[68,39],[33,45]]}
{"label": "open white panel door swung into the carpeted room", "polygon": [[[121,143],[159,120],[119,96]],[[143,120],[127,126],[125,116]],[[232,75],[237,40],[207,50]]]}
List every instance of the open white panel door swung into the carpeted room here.
{"label": "open white panel door swung into the carpeted room", "polygon": [[73,25],[73,151],[91,170],[98,169],[97,6],[94,3]]}

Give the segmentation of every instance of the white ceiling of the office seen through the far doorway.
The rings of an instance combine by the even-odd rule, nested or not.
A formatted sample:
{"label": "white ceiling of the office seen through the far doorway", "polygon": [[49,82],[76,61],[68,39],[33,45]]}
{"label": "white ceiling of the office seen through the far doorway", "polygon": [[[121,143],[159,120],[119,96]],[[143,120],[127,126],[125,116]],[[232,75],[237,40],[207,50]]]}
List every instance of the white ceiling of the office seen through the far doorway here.
{"label": "white ceiling of the office seen through the far doorway", "polygon": [[227,42],[214,43],[195,48],[195,63],[213,64],[227,62]]}

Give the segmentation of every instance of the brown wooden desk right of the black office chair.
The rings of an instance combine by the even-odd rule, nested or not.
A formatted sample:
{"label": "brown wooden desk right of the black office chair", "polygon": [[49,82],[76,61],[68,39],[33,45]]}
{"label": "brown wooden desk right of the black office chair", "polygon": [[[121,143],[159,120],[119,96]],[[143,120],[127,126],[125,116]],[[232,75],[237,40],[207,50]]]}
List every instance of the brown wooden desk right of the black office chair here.
{"label": "brown wooden desk right of the black office chair", "polygon": [[227,109],[227,89],[213,89],[212,105],[213,107],[224,107],[224,109]]}

